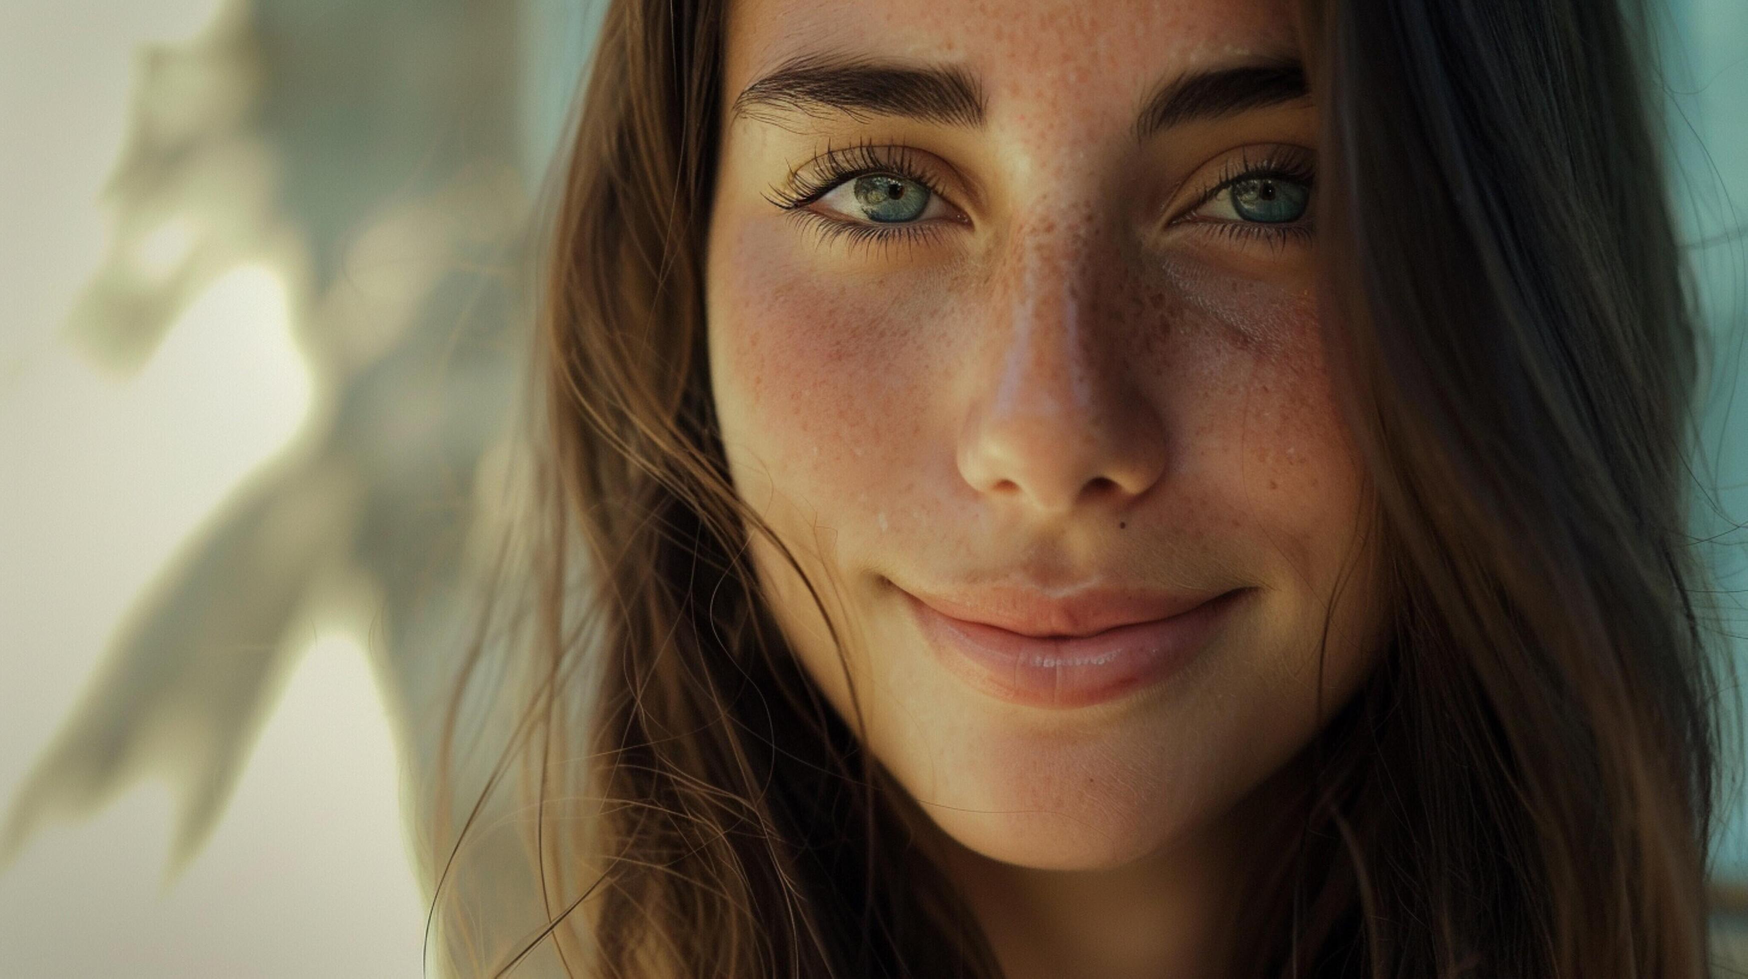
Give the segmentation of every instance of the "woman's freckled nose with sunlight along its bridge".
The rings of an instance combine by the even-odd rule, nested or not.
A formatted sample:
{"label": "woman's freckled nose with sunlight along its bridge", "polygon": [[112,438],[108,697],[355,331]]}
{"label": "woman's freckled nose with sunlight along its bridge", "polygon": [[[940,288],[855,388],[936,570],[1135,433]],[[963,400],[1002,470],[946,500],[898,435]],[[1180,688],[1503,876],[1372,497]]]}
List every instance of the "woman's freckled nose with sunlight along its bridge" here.
{"label": "woman's freckled nose with sunlight along its bridge", "polygon": [[1166,427],[1126,355],[1145,346],[1134,330],[1157,327],[1112,315],[1120,259],[1086,245],[1049,231],[1014,243],[958,446],[974,490],[1051,516],[1120,507],[1168,463]]}

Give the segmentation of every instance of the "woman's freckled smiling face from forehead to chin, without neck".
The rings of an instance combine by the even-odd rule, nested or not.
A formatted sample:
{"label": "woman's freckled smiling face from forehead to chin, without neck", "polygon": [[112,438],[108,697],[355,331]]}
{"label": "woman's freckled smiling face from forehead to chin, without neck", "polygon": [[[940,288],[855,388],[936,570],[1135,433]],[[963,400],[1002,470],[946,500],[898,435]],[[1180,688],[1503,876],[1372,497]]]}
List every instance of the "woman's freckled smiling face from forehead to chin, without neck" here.
{"label": "woman's freckled smiling face from forehead to chin, without neck", "polygon": [[986,857],[1105,869],[1215,825],[1377,647],[1297,63],[1274,0],[732,3],[715,402],[843,657],[755,538],[759,573]]}

